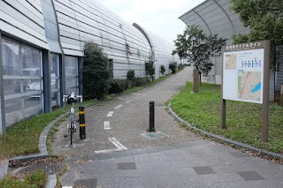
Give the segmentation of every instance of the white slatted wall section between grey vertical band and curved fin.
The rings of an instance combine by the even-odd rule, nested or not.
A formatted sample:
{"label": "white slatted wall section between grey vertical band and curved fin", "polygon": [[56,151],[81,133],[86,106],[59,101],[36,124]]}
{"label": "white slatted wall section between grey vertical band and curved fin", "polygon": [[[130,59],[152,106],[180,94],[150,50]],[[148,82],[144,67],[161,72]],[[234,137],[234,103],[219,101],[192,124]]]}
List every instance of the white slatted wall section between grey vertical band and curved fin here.
{"label": "white slatted wall section between grey vertical band and curved fin", "polygon": [[83,56],[86,41],[94,41],[113,59],[114,78],[128,70],[144,77],[149,42],[134,26],[92,0],[54,0],[60,41],[65,55]]}

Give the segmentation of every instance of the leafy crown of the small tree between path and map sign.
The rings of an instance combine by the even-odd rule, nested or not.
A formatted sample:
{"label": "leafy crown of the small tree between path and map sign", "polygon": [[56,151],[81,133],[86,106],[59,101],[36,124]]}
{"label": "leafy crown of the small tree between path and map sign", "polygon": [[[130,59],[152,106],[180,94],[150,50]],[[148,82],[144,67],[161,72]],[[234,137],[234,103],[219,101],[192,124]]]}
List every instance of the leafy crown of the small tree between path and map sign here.
{"label": "leafy crown of the small tree between path and map sign", "polygon": [[187,26],[184,33],[178,34],[177,40],[173,42],[176,49],[172,51],[172,55],[178,54],[180,58],[192,62],[199,71],[201,80],[202,74],[207,76],[212,69],[210,56],[218,55],[221,47],[226,44],[226,39],[218,39],[217,34],[207,36],[198,26]]}

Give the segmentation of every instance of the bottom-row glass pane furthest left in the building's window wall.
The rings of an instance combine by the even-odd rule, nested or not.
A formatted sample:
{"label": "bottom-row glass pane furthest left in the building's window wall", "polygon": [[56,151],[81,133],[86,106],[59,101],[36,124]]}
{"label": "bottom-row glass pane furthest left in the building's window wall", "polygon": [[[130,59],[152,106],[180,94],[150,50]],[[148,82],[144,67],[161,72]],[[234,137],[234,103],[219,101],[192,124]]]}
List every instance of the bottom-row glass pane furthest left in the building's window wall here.
{"label": "bottom-row glass pane furthest left in the building's window wall", "polygon": [[6,100],[4,102],[6,126],[19,122],[22,117],[21,99]]}

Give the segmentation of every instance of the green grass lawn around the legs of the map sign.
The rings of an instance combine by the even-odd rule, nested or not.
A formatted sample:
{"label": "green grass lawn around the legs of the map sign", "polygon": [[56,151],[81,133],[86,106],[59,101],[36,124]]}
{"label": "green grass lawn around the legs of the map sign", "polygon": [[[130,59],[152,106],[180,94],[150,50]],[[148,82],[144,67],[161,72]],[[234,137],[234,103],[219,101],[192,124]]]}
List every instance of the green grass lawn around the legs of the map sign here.
{"label": "green grass lawn around the legs of the map sign", "polygon": [[221,86],[203,83],[199,93],[192,91],[193,83],[188,82],[172,98],[172,109],[179,117],[207,132],[283,154],[283,108],[278,104],[270,103],[269,142],[264,142],[261,104],[226,101],[226,130],[222,130]]}

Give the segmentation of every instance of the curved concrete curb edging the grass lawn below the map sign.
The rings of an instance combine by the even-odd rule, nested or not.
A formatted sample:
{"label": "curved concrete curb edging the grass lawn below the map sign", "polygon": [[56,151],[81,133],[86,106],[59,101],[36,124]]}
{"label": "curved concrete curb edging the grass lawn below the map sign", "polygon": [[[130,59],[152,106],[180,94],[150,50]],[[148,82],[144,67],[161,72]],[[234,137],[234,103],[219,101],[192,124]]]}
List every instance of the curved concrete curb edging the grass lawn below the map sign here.
{"label": "curved concrete curb edging the grass lawn below the map sign", "polygon": [[283,159],[283,155],[282,154],[277,154],[277,153],[273,153],[273,152],[269,152],[265,149],[260,149],[260,148],[257,148],[257,147],[252,147],[248,144],[244,144],[244,143],[241,143],[241,142],[238,142],[238,141],[234,141],[233,139],[226,139],[224,137],[221,137],[217,134],[212,134],[210,132],[206,132],[202,129],[199,129],[199,128],[196,128],[195,126],[187,123],[187,121],[183,120],[182,118],[180,118],[172,109],[171,109],[171,103],[169,102],[169,105],[168,105],[168,109],[170,110],[171,114],[173,117],[177,118],[181,123],[183,124],[187,124],[187,126],[191,129],[195,129],[196,131],[198,132],[202,132],[203,134],[206,134],[214,139],[220,139],[228,144],[233,144],[233,145],[236,145],[238,147],[242,147],[242,148],[246,148],[246,149],[249,149],[251,151],[254,151],[254,152],[258,152],[260,154],[267,154],[267,155],[270,155],[272,157],[277,157],[277,158],[282,158]]}

